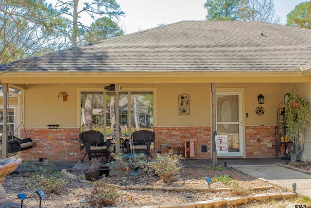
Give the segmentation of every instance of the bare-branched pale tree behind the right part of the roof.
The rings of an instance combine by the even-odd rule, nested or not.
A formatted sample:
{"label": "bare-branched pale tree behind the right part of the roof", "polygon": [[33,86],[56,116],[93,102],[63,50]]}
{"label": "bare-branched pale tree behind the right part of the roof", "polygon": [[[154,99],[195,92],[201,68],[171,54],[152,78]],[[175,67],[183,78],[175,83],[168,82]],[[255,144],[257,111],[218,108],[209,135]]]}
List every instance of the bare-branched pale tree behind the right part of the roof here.
{"label": "bare-branched pale tree behind the right part of the roof", "polygon": [[244,21],[280,22],[273,0],[243,0],[238,16]]}

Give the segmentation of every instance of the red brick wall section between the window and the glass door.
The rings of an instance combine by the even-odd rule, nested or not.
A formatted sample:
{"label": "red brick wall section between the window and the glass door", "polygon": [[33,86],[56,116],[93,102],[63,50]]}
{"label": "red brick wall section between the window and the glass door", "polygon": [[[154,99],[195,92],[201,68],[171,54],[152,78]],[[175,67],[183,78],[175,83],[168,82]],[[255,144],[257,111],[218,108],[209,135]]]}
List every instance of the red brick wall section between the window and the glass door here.
{"label": "red brick wall section between the window and the glass door", "polygon": [[[196,158],[211,157],[210,127],[155,127],[155,152],[166,144],[177,153],[185,141],[194,141]],[[207,145],[207,152],[201,152],[201,145]],[[161,147],[161,151],[168,152],[168,148]],[[181,154],[184,156],[184,149]]]}

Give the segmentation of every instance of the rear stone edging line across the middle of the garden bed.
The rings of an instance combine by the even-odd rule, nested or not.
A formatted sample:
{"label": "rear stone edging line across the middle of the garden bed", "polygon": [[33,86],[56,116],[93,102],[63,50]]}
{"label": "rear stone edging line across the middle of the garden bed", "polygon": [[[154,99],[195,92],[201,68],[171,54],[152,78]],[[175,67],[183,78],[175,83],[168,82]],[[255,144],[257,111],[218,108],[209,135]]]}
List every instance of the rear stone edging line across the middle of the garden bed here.
{"label": "rear stone edging line across the middle of the garden bed", "polygon": [[[71,174],[70,172],[67,171],[67,169],[61,170],[61,174],[73,179],[73,180],[79,180],[88,184],[94,184],[92,181],[86,181],[78,178],[77,176]],[[115,184],[109,184],[111,186],[118,187],[123,190],[154,190],[154,191],[175,191],[175,192],[182,192],[182,191],[187,191],[187,192],[221,192],[221,191],[232,191],[231,188],[220,188],[220,189],[208,189],[208,188],[185,188],[185,187],[161,187],[161,186],[133,186],[133,187],[125,187],[125,186],[120,186],[120,185],[115,185]],[[274,188],[275,186],[266,186],[266,187],[253,187],[253,190],[269,190],[271,188]]]}

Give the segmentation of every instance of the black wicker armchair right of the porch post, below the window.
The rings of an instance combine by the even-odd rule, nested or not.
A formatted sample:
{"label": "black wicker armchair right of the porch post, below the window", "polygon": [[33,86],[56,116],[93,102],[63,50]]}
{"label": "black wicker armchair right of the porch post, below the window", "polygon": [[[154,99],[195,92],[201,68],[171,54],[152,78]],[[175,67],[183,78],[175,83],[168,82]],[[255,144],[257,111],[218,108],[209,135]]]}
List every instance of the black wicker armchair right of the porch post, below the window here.
{"label": "black wicker armchair right of the porch post, below the window", "polygon": [[[146,155],[150,154],[150,145],[152,142],[155,142],[155,132],[148,130],[139,130],[132,134],[132,144],[129,141],[126,141],[127,153],[131,153],[131,150],[134,147],[135,152],[146,152]],[[151,158],[152,155],[150,154]]]}

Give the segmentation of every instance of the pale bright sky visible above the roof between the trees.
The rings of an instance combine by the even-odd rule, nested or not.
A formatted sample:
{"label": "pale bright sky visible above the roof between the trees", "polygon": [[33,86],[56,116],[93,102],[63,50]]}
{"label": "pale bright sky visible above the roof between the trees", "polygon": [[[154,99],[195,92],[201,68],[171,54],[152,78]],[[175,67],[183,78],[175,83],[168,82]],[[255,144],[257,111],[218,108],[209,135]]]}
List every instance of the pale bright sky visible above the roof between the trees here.
{"label": "pale bright sky visible above the roof between the trees", "polygon": [[[86,0],[80,0],[81,2]],[[116,0],[125,16],[119,24],[126,34],[156,27],[160,23],[173,23],[182,20],[205,20],[206,0]],[[281,24],[286,23],[286,15],[298,3],[306,0],[274,0],[276,15]],[[56,0],[47,0],[55,5]],[[82,16],[84,23],[92,22],[88,16]]]}

